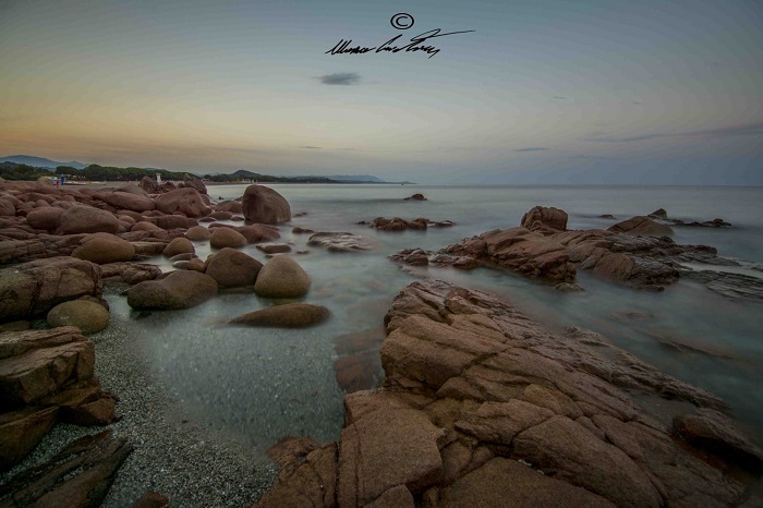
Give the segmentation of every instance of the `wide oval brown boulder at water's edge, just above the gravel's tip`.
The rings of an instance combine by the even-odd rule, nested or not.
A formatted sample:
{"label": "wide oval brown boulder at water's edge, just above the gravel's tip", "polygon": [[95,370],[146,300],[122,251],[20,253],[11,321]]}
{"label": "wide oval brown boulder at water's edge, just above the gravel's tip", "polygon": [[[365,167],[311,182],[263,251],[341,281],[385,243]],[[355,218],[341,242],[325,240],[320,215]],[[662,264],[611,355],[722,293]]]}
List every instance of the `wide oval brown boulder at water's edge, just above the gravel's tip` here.
{"label": "wide oval brown boulder at water's edge, just above the gravel's tip", "polygon": [[160,280],[147,280],[128,291],[128,304],[138,311],[190,309],[217,294],[215,279],[198,271],[173,271]]}

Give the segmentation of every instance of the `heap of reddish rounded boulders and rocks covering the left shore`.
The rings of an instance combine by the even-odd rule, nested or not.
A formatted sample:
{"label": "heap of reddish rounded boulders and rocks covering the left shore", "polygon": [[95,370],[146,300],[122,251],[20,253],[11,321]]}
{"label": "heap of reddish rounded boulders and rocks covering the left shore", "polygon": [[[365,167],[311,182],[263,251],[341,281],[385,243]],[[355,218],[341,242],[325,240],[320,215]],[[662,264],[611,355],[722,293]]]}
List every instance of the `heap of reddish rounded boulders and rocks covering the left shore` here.
{"label": "heap of reddish rounded boulders and rocks covering the left shore", "polygon": [[[249,223],[216,222],[237,214]],[[106,425],[117,418],[118,399],[95,378],[95,347],[83,335],[108,326],[105,285],[123,289],[141,311],[189,309],[227,288],[249,288],[274,303],[303,297],[311,279],[295,261],[263,264],[238,250],[278,239],[274,225],[290,214],[282,196],[259,185],[240,201],[214,204],[193,177],[159,188],[149,179],[116,189],[0,182],[0,471],[58,422]],[[198,241],[215,250],[206,261],[195,255]],[[161,254],[175,271],[143,263]],[[230,323],[299,327],[327,317],[320,305],[290,302]],[[49,329],[29,329],[38,319]],[[73,443],[45,468],[15,476],[0,496],[13,506],[97,506],[131,449],[108,435]]]}

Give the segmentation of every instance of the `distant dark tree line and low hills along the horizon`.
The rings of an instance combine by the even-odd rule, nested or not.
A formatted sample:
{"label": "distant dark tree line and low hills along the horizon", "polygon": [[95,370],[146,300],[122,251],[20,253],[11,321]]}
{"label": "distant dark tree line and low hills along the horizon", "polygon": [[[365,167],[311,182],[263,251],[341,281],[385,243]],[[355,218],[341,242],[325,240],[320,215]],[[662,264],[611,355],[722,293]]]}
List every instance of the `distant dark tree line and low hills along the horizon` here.
{"label": "distant dark tree line and low hills along the horizon", "polygon": [[[16,162],[1,162],[0,178],[4,180],[26,180],[33,181],[40,177],[51,177],[53,174],[65,174],[70,180],[87,180],[101,182],[124,182],[124,181],[141,181],[144,177],[156,180],[156,176],[160,176],[161,180],[183,180],[185,174],[194,174],[187,171],[169,171],[167,169],[154,168],[118,168],[114,166],[89,165],[84,169],[76,169],[71,166],[59,166],[55,170],[50,168],[41,168]],[[348,176],[347,180],[342,177],[274,177],[270,174],[261,174],[252,171],[240,169],[232,173],[218,174],[194,174],[196,178],[205,182],[213,183],[411,183],[411,182],[385,182],[376,177]]]}

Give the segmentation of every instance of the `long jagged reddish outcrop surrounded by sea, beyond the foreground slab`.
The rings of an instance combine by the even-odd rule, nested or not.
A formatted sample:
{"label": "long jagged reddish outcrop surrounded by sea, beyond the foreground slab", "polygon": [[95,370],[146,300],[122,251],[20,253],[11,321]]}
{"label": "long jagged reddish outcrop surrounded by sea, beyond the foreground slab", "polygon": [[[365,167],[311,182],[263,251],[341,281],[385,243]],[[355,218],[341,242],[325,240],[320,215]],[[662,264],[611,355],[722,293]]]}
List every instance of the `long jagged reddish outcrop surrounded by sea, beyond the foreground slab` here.
{"label": "long jagged reddish outcrop surrounded by sea, beyond the foreground slab", "polygon": [[[668,226],[649,217],[637,216],[606,230],[568,230],[567,219],[564,210],[536,206],[522,217],[517,228],[486,231],[440,253],[411,249],[390,258],[414,266],[498,265],[562,287],[574,282],[577,269],[582,268],[609,280],[651,290],[662,290],[681,275],[693,276],[683,263],[738,265],[718,256],[714,247],[677,244],[669,237],[673,231]],[[743,289],[734,295],[763,299],[760,279],[718,274],[713,276],[714,285],[707,287],[724,288],[718,279],[726,285],[742,281]]]}

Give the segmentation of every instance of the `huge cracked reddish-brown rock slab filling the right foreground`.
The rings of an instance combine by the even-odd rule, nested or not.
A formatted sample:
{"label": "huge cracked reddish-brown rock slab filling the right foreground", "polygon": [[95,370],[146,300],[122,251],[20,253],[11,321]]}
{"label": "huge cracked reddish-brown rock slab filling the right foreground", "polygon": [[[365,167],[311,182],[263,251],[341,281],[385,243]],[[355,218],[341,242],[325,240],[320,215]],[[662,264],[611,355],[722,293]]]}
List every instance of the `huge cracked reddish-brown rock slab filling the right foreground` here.
{"label": "huge cracked reddish-brown rock slab filling the right foreground", "polygon": [[746,488],[763,453],[724,403],[598,335],[553,336],[507,302],[435,280],[405,288],[385,322],[384,387],[346,397],[338,445],[281,455],[255,506],[761,501]]}

